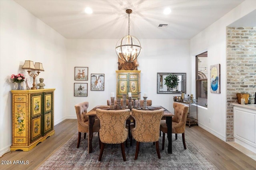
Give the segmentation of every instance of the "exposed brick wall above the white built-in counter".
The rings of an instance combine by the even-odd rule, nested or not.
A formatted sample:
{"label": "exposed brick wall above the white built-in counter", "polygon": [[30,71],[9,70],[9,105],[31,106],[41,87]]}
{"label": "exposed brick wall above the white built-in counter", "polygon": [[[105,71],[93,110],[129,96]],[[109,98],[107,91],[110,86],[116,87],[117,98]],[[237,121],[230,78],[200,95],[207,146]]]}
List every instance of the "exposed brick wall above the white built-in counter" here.
{"label": "exposed brick wall above the white built-in counter", "polygon": [[227,27],[226,141],[234,141],[236,93],[256,92],[256,27]]}

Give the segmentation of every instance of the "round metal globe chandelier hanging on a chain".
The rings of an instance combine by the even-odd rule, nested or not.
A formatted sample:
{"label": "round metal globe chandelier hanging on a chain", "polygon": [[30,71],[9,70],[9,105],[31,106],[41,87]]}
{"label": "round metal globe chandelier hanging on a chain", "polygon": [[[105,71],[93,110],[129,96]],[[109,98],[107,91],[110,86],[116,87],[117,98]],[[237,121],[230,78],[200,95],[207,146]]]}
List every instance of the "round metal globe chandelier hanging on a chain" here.
{"label": "round metal globe chandelier hanging on a chain", "polygon": [[116,43],[116,54],[125,62],[131,63],[139,57],[142,47],[140,41],[134,36],[130,36],[130,14],[132,10],[126,10],[128,14],[128,36],[124,36]]}

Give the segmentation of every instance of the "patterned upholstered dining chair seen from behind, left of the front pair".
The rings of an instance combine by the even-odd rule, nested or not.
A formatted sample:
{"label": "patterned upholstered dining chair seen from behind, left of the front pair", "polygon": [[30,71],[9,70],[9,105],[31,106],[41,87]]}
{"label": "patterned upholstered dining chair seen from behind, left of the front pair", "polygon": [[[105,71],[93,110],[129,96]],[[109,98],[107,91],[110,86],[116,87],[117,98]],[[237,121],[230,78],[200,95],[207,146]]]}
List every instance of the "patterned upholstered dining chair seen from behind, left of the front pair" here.
{"label": "patterned upholstered dining chair seen from behind, left of the front pair", "polygon": [[96,115],[100,119],[100,155],[102,158],[105,144],[121,144],[123,160],[126,161],[124,142],[128,137],[126,119],[130,117],[130,109],[125,110],[102,110],[96,109]]}

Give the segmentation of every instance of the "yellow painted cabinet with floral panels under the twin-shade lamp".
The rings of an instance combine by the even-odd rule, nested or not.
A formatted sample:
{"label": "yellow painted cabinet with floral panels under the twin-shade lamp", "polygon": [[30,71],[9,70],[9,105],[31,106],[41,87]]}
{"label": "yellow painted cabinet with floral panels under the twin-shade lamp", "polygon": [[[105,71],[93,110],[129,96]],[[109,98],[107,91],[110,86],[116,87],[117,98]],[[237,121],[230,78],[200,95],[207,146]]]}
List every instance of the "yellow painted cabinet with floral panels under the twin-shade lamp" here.
{"label": "yellow painted cabinet with floral panels under the twin-shade lamp", "polygon": [[54,90],[12,90],[13,150],[31,150],[54,134]]}

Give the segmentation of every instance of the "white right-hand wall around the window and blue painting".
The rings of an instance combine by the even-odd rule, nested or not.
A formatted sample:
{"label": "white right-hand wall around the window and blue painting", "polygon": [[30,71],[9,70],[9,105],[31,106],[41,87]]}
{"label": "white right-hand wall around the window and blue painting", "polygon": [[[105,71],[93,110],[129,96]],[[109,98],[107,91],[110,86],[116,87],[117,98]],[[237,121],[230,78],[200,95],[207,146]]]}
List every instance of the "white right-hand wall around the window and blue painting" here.
{"label": "white right-hand wall around the window and blue painting", "polygon": [[[208,81],[208,109],[198,108],[199,125],[226,140],[226,27],[256,9],[256,1],[244,1],[228,14],[211,26],[200,32],[190,42],[190,56],[194,61],[195,55],[208,51],[208,77],[210,65],[220,63],[220,94],[210,93]],[[195,61],[194,61],[195,62]],[[192,62],[192,72],[195,63]],[[195,75],[192,74],[192,80]],[[192,81],[192,89],[195,83]],[[211,123],[209,123],[211,119]]]}

